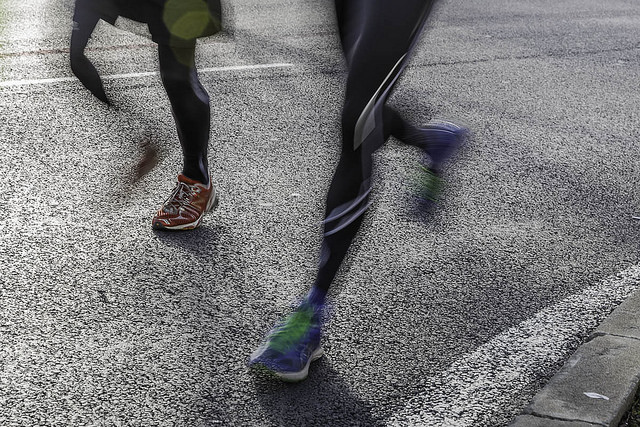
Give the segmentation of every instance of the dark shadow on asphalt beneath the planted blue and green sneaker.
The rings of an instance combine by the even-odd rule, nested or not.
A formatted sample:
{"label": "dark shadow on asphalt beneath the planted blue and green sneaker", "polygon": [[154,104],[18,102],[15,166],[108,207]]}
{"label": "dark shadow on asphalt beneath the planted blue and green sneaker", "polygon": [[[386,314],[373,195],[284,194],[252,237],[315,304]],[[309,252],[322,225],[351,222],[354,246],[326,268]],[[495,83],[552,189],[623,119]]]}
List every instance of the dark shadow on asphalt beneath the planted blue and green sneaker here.
{"label": "dark shadow on asphalt beneath the planted blue and green sneaker", "polygon": [[309,376],[286,383],[253,373],[256,395],[271,424],[277,426],[382,426],[333,369],[326,357],[314,362]]}

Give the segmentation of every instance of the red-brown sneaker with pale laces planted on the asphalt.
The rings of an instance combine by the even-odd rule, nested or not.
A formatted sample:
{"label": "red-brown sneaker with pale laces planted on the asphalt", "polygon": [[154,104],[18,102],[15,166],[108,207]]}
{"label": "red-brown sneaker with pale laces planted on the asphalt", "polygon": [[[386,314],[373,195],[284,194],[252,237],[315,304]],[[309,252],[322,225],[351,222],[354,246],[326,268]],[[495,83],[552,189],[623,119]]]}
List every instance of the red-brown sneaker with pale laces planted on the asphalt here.
{"label": "red-brown sneaker with pale laces planted on the asphalt", "polygon": [[178,175],[178,183],[171,196],[153,217],[156,230],[193,230],[200,225],[204,214],[218,205],[218,195],[209,186]]}

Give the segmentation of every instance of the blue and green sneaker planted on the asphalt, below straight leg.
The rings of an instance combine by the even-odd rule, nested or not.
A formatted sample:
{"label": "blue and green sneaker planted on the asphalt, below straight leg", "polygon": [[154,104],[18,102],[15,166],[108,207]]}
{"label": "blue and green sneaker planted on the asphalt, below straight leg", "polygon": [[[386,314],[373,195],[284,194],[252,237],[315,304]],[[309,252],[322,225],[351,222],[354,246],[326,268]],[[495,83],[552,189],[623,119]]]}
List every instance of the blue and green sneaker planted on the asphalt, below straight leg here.
{"label": "blue and green sneaker planted on the asphalt, below straight leg", "polygon": [[311,362],[324,354],[320,347],[321,311],[322,306],[303,301],[269,332],[249,357],[249,367],[284,381],[304,380]]}

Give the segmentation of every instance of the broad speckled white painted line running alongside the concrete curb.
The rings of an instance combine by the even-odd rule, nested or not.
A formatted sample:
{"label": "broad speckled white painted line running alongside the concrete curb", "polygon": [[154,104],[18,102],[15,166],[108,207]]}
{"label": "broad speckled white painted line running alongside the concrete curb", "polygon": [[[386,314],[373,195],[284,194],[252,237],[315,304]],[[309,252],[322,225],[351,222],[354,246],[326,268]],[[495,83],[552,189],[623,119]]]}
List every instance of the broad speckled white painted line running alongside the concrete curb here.
{"label": "broad speckled white painted line running alongside the concrete curb", "polygon": [[[538,312],[427,379],[390,426],[496,426],[510,421],[579,344],[634,290],[640,265]],[[534,386],[534,387],[532,387]],[[527,391],[528,390],[528,391]],[[536,390],[533,390],[535,392]]]}

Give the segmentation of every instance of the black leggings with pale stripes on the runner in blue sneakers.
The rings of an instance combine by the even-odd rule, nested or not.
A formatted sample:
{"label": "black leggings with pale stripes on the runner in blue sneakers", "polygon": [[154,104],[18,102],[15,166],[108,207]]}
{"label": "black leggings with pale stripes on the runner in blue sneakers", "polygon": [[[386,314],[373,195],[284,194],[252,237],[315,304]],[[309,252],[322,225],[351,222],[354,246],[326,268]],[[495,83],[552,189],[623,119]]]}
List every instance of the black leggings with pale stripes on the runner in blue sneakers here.
{"label": "black leggings with pale stripes on the runner in blue sneakers", "polygon": [[390,135],[415,128],[385,102],[406,67],[433,0],[335,0],[348,66],[342,152],[327,194],[320,267],[314,285],[327,290],[369,203],[373,153]]}

